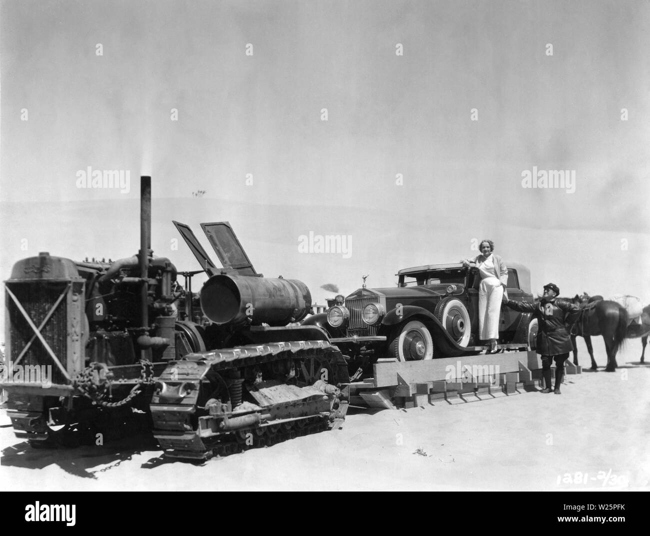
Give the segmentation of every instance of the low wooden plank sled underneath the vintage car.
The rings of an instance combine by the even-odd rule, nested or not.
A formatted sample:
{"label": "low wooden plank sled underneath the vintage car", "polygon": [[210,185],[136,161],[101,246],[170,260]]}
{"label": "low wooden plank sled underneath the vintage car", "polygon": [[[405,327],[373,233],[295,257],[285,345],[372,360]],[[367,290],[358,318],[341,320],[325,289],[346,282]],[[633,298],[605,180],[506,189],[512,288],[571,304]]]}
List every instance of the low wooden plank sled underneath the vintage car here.
{"label": "low wooden plank sled underneath the vintage car", "polygon": [[[461,404],[512,396],[541,387],[541,359],[535,351],[400,362],[379,359],[374,377],[344,385],[350,405],[397,409]],[[567,360],[565,374],[582,368]]]}

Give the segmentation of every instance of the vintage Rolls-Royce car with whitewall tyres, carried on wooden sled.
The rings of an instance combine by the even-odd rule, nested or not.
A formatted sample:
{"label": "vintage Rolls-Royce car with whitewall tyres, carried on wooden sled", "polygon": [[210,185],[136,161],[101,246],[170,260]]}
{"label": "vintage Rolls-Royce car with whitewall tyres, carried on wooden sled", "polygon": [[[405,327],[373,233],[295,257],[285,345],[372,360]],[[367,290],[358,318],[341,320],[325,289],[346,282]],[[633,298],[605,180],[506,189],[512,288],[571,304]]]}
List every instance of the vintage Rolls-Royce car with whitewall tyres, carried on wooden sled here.
{"label": "vintage Rolls-Royce car with whitewall tyres, carried on wooden sled", "polygon": [[[528,268],[508,266],[510,300],[533,301]],[[304,324],[318,325],[350,358],[372,355],[416,361],[480,353],[478,285],[471,264],[429,264],[405,268],[395,288],[359,288],[344,305],[315,314]],[[502,307],[499,347],[534,348],[536,320]]]}

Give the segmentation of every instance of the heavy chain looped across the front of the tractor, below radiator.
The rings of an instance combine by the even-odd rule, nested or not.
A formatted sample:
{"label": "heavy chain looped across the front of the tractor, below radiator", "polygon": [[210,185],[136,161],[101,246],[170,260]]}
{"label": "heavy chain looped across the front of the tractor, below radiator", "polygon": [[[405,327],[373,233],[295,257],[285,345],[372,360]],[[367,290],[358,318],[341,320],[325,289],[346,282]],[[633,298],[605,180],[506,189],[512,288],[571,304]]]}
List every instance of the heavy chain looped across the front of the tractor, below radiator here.
{"label": "heavy chain looped across the front of the tractor, below radiator", "polygon": [[78,389],[83,396],[90,398],[93,405],[106,408],[116,408],[127,405],[142,390],[144,385],[153,384],[153,363],[147,359],[140,359],[140,379],[133,386],[131,392],[122,400],[109,402],[112,399],[113,374],[106,363],[90,363],[78,372],[72,379],[72,387]]}

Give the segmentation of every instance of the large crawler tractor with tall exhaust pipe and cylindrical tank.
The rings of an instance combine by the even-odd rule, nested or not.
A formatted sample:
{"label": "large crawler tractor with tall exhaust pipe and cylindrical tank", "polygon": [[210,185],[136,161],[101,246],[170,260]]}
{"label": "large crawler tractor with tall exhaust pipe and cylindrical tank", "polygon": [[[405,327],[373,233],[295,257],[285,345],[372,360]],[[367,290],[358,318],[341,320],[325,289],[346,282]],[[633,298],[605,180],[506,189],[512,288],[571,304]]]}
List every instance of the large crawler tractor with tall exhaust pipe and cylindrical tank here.
{"label": "large crawler tractor with tall exhaust pipe and cylindrical tank", "polygon": [[[320,327],[297,325],[311,307],[304,283],[255,272],[227,222],[201,224],[223,268],[174,224],[201,270],[177,272],[153,256],[151,179],[142,177],[137,255],[40,253],[14,264],[0,389],[18,437],[68,446],[146,426],[166,455],[206,459],[344,418],[343,355]],[[201,272],[209,279],[197,294]]]}

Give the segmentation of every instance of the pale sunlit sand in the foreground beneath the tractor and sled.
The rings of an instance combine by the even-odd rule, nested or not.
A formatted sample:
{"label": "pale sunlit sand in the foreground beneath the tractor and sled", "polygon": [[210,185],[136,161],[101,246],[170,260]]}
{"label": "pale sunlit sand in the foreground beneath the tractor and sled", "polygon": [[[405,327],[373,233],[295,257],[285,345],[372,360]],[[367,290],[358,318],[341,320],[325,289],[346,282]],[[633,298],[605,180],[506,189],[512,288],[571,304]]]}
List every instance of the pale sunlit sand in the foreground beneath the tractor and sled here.
{"label": "pale sunlit sand in the foreground beneath the tractor and sled", "polygon": [[602,339],[594,346],[599,372],[567,376],[559,396],[358,412],[341,430],[202,466],[164,461],[142,439],[34,450],[2,411],[0,481],[30,491],[650,491],[650,365],[639,364],[640,342],[629,340],[621,367],[606,373]]}

